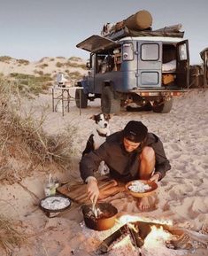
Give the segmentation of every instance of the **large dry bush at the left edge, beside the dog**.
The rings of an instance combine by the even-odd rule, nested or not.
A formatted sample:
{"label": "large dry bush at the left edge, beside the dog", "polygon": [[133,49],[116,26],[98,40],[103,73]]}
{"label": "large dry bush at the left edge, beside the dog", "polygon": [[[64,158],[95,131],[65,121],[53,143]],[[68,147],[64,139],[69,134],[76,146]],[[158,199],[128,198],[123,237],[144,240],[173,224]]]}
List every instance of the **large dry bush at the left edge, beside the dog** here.
{"label": "large dry bush at the left edge, beside the dog", "polygon": [[14,98],[8,84],[0,82],[0,181],[17,182],[51,164],[67,168],[74,128],[48,136],[42,130],[44,114],[40,120],[34,120],[31,113],[23,118],[18,105],[11,102]]}

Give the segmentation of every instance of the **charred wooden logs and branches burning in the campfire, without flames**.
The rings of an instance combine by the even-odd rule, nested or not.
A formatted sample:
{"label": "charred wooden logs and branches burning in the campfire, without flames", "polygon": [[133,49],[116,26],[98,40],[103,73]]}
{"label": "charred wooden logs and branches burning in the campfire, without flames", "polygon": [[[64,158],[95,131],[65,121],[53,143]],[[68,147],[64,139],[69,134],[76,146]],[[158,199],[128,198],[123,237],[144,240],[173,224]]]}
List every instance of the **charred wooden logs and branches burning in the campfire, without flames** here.
{"label": "charred wooden logs and branches burning in the campfire, without flames", "polygon": [[[158,224],[154,222],[135,221],[127,222],[120,229],[112,233],[111,236],[104,239],[96,250],[96,254],[104,254],[113,249],[115,244],[118,244],[125,237],[130,238],[131,244],[135,247],[138,255],[142,255],[141,248],[147,242],[146,237],[152,233],[153,228],[162,229],[166,232],[168,239],[166,247],[170,249],[193,249],[195,243],[199,243],[203,248],[208,246],[208,235],[201,234],[193,230],[184,229],[180,227],[169,226],[167,224]],[[158,233],[156,233],[158,234]],[[146,240],[145,240],[146,239]],[[195,243],[194,243],[195,242]],[[198,247],[197,247],[198,248]]]}

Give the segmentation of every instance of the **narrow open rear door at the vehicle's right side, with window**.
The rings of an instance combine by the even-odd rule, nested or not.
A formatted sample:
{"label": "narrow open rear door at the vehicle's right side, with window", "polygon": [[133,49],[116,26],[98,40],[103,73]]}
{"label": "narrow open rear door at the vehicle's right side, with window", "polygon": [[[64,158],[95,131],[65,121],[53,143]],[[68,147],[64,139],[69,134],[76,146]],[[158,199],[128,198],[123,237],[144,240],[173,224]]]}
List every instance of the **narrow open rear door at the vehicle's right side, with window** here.
{"label": "narrow open rear door at the vehicle's right side, with window", "polygon": [[184,40],[176,45],[176,81],[181,88],[189,87],[189,42]]}

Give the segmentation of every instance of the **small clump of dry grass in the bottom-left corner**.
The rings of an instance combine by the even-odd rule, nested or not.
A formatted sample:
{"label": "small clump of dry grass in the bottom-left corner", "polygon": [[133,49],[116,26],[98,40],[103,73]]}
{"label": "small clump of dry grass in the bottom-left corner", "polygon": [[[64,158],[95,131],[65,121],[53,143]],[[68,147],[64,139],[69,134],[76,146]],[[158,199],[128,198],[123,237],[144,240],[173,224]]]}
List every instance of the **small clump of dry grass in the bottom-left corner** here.
{"label": "small clump of dry grass in the bottom-left corner", "polygon": [[0,215],[0,248],[2,247],[7,255],[12,255],[15,246],[26,242],[27,235],[22,231],[20,223]]}

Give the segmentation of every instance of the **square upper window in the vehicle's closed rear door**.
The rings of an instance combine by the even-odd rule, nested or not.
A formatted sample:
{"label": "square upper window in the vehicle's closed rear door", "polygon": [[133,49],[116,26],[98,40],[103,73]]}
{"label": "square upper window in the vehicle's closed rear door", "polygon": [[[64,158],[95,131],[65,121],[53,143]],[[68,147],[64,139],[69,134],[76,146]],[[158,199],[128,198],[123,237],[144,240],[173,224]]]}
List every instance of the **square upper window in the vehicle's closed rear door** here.
{"label": "square upper window in the vehicle's closed rear door", "polygon": [[143,43],[141,45],[141,59],[143,61],[159,59],[158,43]]}

